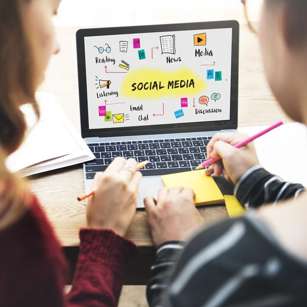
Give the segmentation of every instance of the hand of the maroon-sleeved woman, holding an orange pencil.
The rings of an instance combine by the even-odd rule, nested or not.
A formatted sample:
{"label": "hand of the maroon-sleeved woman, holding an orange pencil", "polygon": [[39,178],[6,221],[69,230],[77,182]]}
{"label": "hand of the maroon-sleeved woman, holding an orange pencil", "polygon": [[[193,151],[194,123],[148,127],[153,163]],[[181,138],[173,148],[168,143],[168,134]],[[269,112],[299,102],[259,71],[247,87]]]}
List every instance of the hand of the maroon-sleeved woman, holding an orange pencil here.
{"label": "hand of the maroon-sleeved woman, holding an orange pencil", "polygon": [[134,159],[116,158],[94,179],[95,194],[86,208],[87,227],[107,228],[124,236],[136,213],[142,174]]}

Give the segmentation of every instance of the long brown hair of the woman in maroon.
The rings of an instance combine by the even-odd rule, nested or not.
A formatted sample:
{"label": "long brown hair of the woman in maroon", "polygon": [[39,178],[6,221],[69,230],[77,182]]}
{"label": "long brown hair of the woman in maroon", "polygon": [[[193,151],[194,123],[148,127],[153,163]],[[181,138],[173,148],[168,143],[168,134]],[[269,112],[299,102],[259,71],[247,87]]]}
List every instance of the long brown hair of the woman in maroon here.
{"label": "long brown hair of the woman in maroon", "polygon": [[27,124],[20,106],[31,103],[37,117],[39,116],[34,99],[31,44],[27,41],[21,15],[22,6],[29,5],[30,2],[31,0],[0,1],[0,187],[9,187],[5,191],[6,200],[13,205],[21,202],[19,196],[25,189],[23,181],[6,168],[5,160],[25,137]]}

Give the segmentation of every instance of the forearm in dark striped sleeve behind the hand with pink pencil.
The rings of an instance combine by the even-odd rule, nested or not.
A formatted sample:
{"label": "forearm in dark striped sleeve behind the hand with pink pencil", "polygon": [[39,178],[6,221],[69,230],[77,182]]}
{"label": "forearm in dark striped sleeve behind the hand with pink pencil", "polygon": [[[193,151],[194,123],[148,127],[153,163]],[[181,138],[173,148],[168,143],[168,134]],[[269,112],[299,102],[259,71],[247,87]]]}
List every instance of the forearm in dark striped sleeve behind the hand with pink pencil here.
{"label": "forearm in dark striped sleeve behind the hand with pink pencil", "polygon": [[234,194],[246,208],[277,203],[297,196],[304,190],[301,184],[284,182],[260,165],[248,170],[237,182]]}

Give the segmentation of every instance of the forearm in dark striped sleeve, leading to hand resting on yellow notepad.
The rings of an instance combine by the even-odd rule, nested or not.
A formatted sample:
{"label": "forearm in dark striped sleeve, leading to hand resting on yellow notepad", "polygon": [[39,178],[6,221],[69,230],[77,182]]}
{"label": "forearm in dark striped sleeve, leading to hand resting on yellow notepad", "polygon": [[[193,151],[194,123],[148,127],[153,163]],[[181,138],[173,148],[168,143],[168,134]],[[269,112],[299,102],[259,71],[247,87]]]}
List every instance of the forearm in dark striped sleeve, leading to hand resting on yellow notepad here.
{"label": "forearm in dark striped sleeve, leading to hand resting on yellow notepad", "polygon": [[183,250],[184,243],[169,241],[159,246],[155,263],[151,267],[151,278],[147,285],[146,296],[150,307],[161,306],[161,295],[168,283],[172,268]]}

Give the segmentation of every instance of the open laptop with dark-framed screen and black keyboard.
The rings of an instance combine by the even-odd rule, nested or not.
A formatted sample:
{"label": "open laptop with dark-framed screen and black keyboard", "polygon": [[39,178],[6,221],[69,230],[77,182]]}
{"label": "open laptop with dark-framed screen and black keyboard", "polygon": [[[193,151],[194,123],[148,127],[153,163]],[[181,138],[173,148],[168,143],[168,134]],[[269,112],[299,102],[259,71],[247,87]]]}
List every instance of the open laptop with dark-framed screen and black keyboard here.
{"label": "open laptop with dark-framed screen and black keyboard", "polygon": [[191,171],[221,131],[237,129],[239,25],[81,29],[76,34],[81,134],[96,159],[85,190],[114,158],[148,160],[138,208],[161,176]]}

